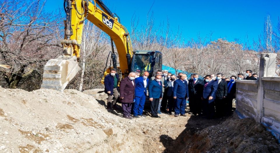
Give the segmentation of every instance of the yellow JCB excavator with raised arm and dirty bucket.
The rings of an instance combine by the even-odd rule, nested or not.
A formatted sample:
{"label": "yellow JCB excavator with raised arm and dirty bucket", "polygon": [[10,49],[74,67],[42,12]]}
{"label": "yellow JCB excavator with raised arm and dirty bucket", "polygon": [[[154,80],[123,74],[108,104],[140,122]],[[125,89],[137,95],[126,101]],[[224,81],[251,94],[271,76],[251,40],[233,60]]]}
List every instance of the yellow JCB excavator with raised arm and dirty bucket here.
{"label": "yellow JCB excavator with raised arm and dirty bucket", "polygon": [[[97,7],[97,5],[100,7]],[[101,0],[64,0],[66,13],[63,55],[57,59],[50,59],[44,66],[41,88],[55,89],[63,92],[69,81],[79,71],[80,44],[82,41],[83,24],[89,20],[111,37],[113,68],[118,70],[120,78],[129,72],[149,71],[150,76],[162,69],[162,53],[159,51],[132,51],[132,44],[127,29],[120,24],[119,17],[113,14]],[[86,40],[85,40],[86,41]],[[116,53],[118,52],[119,67],[117,67]],[[108,68],[104,73],[110,73]]]}

